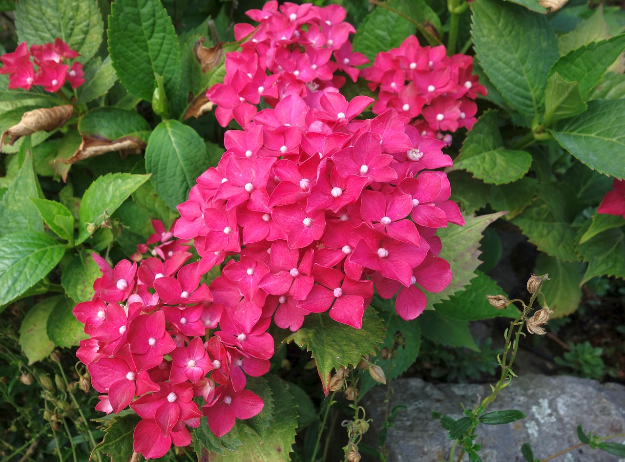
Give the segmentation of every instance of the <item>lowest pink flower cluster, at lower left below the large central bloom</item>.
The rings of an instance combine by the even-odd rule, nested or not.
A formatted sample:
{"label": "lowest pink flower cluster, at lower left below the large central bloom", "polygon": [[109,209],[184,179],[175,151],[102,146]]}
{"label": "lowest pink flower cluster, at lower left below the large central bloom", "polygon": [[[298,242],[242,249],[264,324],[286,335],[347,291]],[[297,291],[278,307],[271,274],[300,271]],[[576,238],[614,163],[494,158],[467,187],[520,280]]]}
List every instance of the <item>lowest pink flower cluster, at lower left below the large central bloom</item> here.
{"label": "lowest pink flower cluster, at lower left below the large central bloom", "polygon": [[[191,258],[186,241],[153,224],[157,233],[148,242],[159,243],[154,257],[139,266],[123,260],[112,269],[94,254],[103,276],[93,299],[74,308],[90,336],[77,356],[103,393],[96,409],[117,414],[130,406],[139,414],[134,451],[146,458],[163,456],[172,443],[191,443],[187,427],[199,426],[202,415],[222,436],[236,418],[259,413],[264,403],[244,389],[245,374],[266,374],[274,347],[266,327],[244,333],[222,304],[212,303],[199,263],[185,265]],[[206,403],[201,409],[196,396]]]}

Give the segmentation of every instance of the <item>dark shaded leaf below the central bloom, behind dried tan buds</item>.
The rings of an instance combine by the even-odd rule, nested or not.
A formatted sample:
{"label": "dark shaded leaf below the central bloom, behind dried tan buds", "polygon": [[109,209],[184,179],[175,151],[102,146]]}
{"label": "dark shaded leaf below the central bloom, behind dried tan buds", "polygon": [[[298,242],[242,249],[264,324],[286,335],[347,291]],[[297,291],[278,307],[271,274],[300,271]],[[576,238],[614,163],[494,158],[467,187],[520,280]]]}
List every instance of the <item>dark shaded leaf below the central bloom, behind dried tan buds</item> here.
{"label": "dark shaded leaf below the central bloom, behind dried tan buds", "polygon": [[[421,328],[417,321],[405,321],[395,313],[384,313],[389,316],[386,323],[386,338],[380,345],[380,349],[387,348],[392,352],[392,357],[382,359],[377,356],[372,362],[384,371],[386,381],[390,382],[404,373],[417,359],[421,346]],[[361,396],[369,389],[379,384],[371,378],[370,374],[364,373],[360,379]]]}

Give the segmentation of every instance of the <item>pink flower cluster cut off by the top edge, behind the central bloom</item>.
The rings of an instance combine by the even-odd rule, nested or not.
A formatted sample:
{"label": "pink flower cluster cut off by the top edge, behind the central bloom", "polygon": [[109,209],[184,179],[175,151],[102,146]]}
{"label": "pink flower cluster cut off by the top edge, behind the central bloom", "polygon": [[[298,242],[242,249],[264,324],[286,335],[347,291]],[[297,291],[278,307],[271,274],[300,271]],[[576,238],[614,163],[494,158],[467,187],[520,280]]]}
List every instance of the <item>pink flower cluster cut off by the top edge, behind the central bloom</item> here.
{"label": "pink flower cluster cut off by the top edge, behind the central bloom", "polygon": [[245,127],[261,98],[275,107],[288,94],[296,94],[316,106],[324,91],[337,92],[345,83],[335,71],[344,71],[355,82],[359,71],[354,66],[369,62],[362,53],[352,53],[348,37],[356,30],[343,21],[346,12],[341,6],[285,2],[278,10],[277,1],[271,0],[262,10],[246,14],[261,24],[234,26],[237,40],[251,39],[241,45],[241,53],[226,55],[224,83],[206,94],[218,105],[215,115],[221,126],[234,118]]}

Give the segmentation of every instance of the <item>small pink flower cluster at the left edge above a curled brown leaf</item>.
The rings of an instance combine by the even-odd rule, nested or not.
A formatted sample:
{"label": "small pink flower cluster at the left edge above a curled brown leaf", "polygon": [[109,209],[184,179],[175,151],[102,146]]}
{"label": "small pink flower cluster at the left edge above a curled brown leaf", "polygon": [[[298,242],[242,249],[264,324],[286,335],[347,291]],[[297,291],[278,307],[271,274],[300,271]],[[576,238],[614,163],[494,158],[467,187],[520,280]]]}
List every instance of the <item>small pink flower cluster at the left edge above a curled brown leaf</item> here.
{"label": "small pink flower cluster at the left edge above a curled brown leaf", "polygon": [[[9,74],[9,89],[29,90],[33,85],[41,85],[44,90],[54,93],[61,89],[66,80],[72,88],[78,88],[84,83],[83,64],[78,61],[71,67],[63,64],[64,59],[78,56],[76,51],[59,38],[54,44],[31,45],[30,51],[26,42],[22,42],[13,53],[0,56],[0,61],[4,64],[0,68],[0,74]],[[31,58],[34,59],[34,65]],[[34,66],[37,66],[36,70]]]}

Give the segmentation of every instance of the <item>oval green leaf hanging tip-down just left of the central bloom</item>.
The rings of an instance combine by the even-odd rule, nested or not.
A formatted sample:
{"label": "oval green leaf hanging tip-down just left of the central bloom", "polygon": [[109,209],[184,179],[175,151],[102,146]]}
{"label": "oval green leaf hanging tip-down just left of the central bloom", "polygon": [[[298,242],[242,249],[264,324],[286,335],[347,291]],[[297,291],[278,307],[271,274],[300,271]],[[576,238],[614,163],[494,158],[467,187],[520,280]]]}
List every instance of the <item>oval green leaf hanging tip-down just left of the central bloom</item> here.
{"label": "oval green leaf hanging tip-down just left of the central bloom", "polygon": [[176,120],[159,123],[146,148],[146,171],[171,209],[189,198],[196,179],[209,167],[206,144],[197,132]]}

